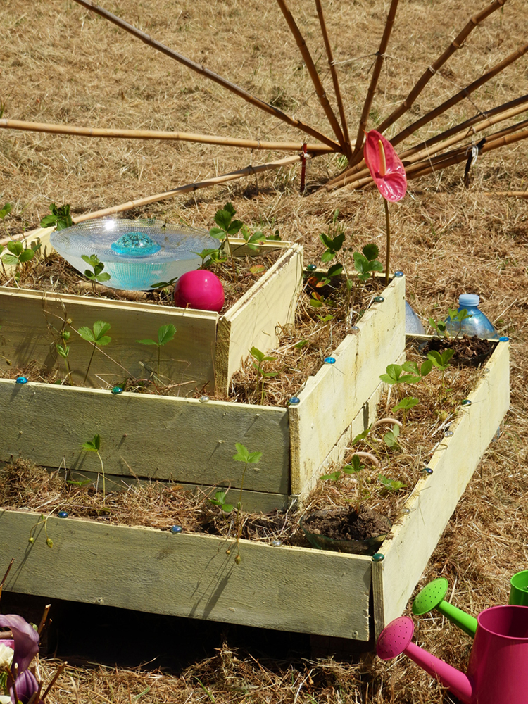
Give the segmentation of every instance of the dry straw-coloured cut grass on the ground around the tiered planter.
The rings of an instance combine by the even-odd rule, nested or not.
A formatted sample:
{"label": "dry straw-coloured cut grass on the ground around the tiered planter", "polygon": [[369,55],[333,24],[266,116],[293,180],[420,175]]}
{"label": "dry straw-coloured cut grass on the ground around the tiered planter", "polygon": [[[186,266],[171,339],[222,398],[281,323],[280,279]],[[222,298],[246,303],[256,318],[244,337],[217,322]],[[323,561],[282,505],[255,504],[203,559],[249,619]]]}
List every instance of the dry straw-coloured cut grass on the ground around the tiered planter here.
{"label": "dry straw-coloured cut grass on the ground around the tiered planter", "polygon": [[[275,4],[241,0],[109,2],[111,11],[183,54],[274,101],[327,133],[326,122],[294,42]],[[351,132],[357,125],[369,70],[388,4],[382,0],[327,3],[327,24],[342,78]],[[315,8],[292,0],[292,11],[315,58]],[[399,103],[422,70],[434,61],[455,30],[483,6],[480,0],[403,2],[372,106],[370,127]],[[231,134],[260,139],[298,139],[298,134],[239,99],[226,96],[170,59],[155,54],[69,0],[30,6],[6,0],[0,6],[0,49],[6,118],[75,125],[145,127]],[[478,77],[526,42],[524,2],[509,0],[475,31],[463,49],[429,84],[413,107],[417,115]],[[323,65],[323,60],[320,60]],[[325,73],[325,69],[322,69]],[[325,86],[329,77],[325,77]],[[419,138],[527,93],[526,61],[520,61]],[[393,132],[394,133],[394,132]],[[389,135],[390,136],[390,135]],[[436,548],[422,584],[444,575],[451,601],[476,614],[505,603],[511,574],[525,567],[522,536],[528,532],[528,219],[526,202],[489,195],[526,190],[526,143],[490,153],[472,167],[464,189],[463,168],[413,181],[409,194],[391,207],[394,248],[391,268],[407,276],[408,299],[425,320],[441,317],[458,294],[482,296],[482,308],[512,338],[512,407],[503,433],[491,444]],[[275,155],[205,145],[103,141],[0,131],[0,198],[13,203],[9,232],[36,227],[49,203],[71,203],[74,213],[116,203],[239,168]],[[336,156],[309,165],[308,184],[337,175]],[[301,241],[306,260],[318,263],[318,234],[336,208],[352,246],[375,241],[384,249],[382,203],[373,192],[339,191],[301,198],[298,169],[199,191],[149,206],[132,215],[183,220],[209,227],[213,214],[232,199],[237,215],[278,228],[282,239]],[[441,617],[417,620],[417,642],[453,665],[467,664],[468,639]],[[48,668],[44,663],[44,668]],[[129,670],[72,670],[61,677],[50,702],[130,704],[232,701],[279,704],[433,704],[441,688],[406,659],[337,665],[335,662],[256,662],[225,645],[212,660],[196,662],[178,677]],[[198,679],[203,686],[199,684]],[[204,689],[205,688],[205,689]]]}

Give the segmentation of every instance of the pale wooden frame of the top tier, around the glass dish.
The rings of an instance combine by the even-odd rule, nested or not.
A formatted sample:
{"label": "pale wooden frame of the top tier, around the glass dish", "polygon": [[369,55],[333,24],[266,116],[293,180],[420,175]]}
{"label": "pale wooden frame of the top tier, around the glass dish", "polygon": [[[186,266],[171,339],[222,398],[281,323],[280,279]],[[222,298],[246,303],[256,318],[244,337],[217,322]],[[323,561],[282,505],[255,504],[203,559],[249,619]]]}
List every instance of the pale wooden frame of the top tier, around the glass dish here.
{"label": "pale wooden frame of the top tier, around the glass dish", "polygon": [[[39,240],[49,253],[53,229],[27,233],[27,244]],[[258,253],[248,249],[243,239],[230,241],[241,256]],[[61,339],[52,328],[61,329],[65,318],[73,320],[75,329],[84,325],[91,328],[96,320],[104,320],[111,324],[108,334],[112,340],[96,351],[88,380],[92,386],[101,386],[101,380],[114,386],[127,376],[142,378],[149,369],[156,369],[156,348],[137,340],[156,339],[158,328],[172,323],[176,336],[163,347],[161,355],[161,374],[177,384],[172,393],[185,396],[204,388],[227,393],[229,380],[249,349],[256,346],[269,351],[277,342],[277,327],[294,322],[302,286],[303,248],[282,241],[267,242],[259,248],[276,249],[283,250],[279,259],[222,315],[142,301],[0,287],[0,353],[14,365],[34,360],[46,370],[60,360],[65,375],[63,360],[55,350],[55,343]],[[92,346],[75,336],[69,344],[73,379],[82,384]]]}

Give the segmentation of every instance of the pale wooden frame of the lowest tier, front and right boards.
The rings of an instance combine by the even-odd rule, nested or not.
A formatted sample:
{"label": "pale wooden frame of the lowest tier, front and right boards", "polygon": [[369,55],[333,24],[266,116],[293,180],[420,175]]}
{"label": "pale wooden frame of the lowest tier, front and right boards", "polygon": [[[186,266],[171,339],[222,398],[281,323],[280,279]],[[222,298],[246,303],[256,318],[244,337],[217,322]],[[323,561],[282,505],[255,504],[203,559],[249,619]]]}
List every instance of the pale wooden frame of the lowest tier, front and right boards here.
{"label": "pale wooden frame of the lowest tier, front and right boards", "polygon": [[[12,382],[10,389],[16,396]],[[6,588],[367,641],[405,608],[508,410],[508,342],[496,344],[467,400],[471,403],[451,423],[453,436],[427,462],[432,472],[421,475],[382,544],[383,560],[243,540],[236,565],[234,539],[53,516],[47,522],[54,541],[50,549],[42,524],[34,543],[28,543],[39,514],[5,510],[0,549],[15,558]]]}

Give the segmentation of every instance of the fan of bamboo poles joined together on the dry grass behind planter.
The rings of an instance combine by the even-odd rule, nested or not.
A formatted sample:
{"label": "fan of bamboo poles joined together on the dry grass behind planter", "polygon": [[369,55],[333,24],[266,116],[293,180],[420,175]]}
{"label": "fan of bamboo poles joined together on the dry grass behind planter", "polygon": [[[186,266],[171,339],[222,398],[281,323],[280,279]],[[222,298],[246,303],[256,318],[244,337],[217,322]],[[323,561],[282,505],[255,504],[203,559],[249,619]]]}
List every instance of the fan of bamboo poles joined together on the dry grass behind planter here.
{"label": "fan of bamboo poles joined together on the dry grass behind planter", "polygon": [[[84,137],[99,137],[99,138],[126,138],[126,139],[162,139],[162,140],[177,140],[204,144],[218,144],[224,146],[232,146],[237,148],[246,148],[252,150],[265,149],[268,151],[290,151],[294,152],[294,156],[289,156],[286,158],[277,159],[262,166],[249,167],[241,170],[234,171],[230,174],[225,174],[220,177],[215,177],[209,180],[203,180],[201,182],[196,182],[193,184],[187,184],[185,186],[179,187],[177,189],[172,189],[170,191],[165,191],[161,194],[156,194],[149,196],[148,198],[139,199],[137,201],[128,201],[127,203],[122,203],[121,206],[115,206],[114,208],[108,208],[106,210],[98,211],[98,213],[92,213],[86,217],[95,217],[99,215],[106,215],[108,213],[115,213],[119,210],[127,210],[129,208],[145,205],[146,203],[152,203],[154,201],[167,199],[172,195],[177,193],[193,191],[199,188],[207,187],[209,185],[224,182],[227,180],[233,180],[237,178],[244,177],[251,173],[255,173],[259,170],[267,170],[273,168],[279,168],[283,165],[289,165],[298,161],[304,161],[306,156],[309,158],[315,158],[324,153],[339,153],[346,157],[347,166],[346,169],[341,172],[340,175],[335,177],[333,180],[327,182],[322,188],[327,191],[338,188],[346,189],[363,189],[372,183],[370,174],[365,167],[365,161],[363,160],[363,139],[365,130],[369,129],[368,118],[372,108],[372,101],[377,92],[379,77],[382,72],[382,67],[384,65],[384,60],[386,58],[386,50],[389,46],[389,39],[391,37],[391,30],[396,21],[396,13],[398,10],[399,0],[391,0],[389,11],[386,15],[386,22],[384,25],[384,31],[382,34],[382,39],[379,43],[379,48],[375,54],[375,63],[372,67],[372,77],[370,80],[370,85],[367,89],[367,94],[365,97],[365,102],[363,104],[363,110],[361,111],[360,120],[358,123],[358,128],[356,132],[356,139],[351,141],[349,136],[348,122],[346,118],[346,113],[344,109],[344,101],[341,95],[341,89],[339,87],[339,75],[337,72],[337,66],[334,61],[334,56],[332,54],[332,47],[330,44],[329,34],[327,32],[327,25],[325,22],[325,13],[322,8],[322,1],[315,0],[315,9],[317,11],[320,34],[322,41],[325,46],[327,63],[329,66],[329,74],[332,78],[332,98],[328,96],[323,81],[320,75],[320,70],[316,65],[317,62],[313,61],[310,50],[308,49],[308,44],[306,43],[305,37],[296,23],[294,15],[289,10],[287,5],[287,0],[277,0],[277,4],[284,15],[284,20],[293,35],[295,42],[298,46],[298,50],[301,54],[303,63],[306,65],[308,74],[310,75],[310,80],[313,83],[313,88],[315,94],[318,96],[320,105],[322,106],[325,116],[329,123],[329,127],[332,130],[332,136],[324,134],[318,129],[305,124],[293,115],[282,111],[276,106],[266,103],[260,100],[258,97],[249,93],[246,89],[234,84],[230,80],[214,73],[212,70],[205,68],[203,65],[192,61],[190,58],[182,56],[182,54],[177,51],[170,49],[165,44],[158,42],[153,39],[149,34],[142,32],[142,30],[137,29],[127,23],[122,18],[117,15],[107,11],[106,9],[95,5],[91,0],[75,0],[77,4],[80,4],[87,10],[100,15],[109,22],[120,27],[120,29],[129,32],[137,39],[151,46],[157,51],[169,56],[175,61],[181,63],[182,65],[189,68],[199,75],[211,80],[218,85],[220,85],[225,90],[231,92],[235,96],[247,101],[252,106],[258,108],[260,111],[264,111],[272,115],[277,120],[282,120],[290,127],[298,130],[302,135],[302,141],[299,142],[263,142],[256,139],[238,139],[234,137],[224,137],[216,135],[207,134],[195,134],[188,132],[159,132],[159,131],[149,131],[149,130],[103,130],[96,127],[75,127],[73,125],[56,125],[56,124],[46,124],[37,122],[23,122],[20,120],[8,120],[6,118],[0,118],[0,127],[3,129],[11,130],[30,130],[36,132],[50,132],[55,134],[73,134],[80,135]],[[382,119],[382,122],[377,125],[377,130],[379,132],[386,132],[389,127],[397,125],[398,120],[401,120],[404,115],[406,115],[410,109],[415,104],[418,96],[425,89],[429,81],[434,79],[436,73],[446,64],[446,62],[455,54],[461,46],[463,46],[466,39],[479,25],[484,23],[486,18],[492,13],[500,10],[507,4],[508,0],[494,0],[490,4],[486,4],[484,8],[478,13],[472,15],[467,20],[467,23],[458,32],[455,39],[451,41],[443,53],[436,58],[436,61],[429,65],[429,67],[422,73],[415,82],[414,87],[410,90],[406,99],[403,100],[394,110]],[[519,46],[515,51],[513,51],[508,56],[505,56],[502,61],[496,63],[496,65],[489,68],[486,73],[474,80],[470,84],[460,89],[458,92],[453,94],[451,97],[446,99],[444,102],[436,106],[434,109],[422,115],[420,118],[415,120],[410,125],[407,125],[404,129],[396,132],[393,137],[391,137],[391,143],[394,146],[398,146],[403,142],[409,144],[410,138],[413,134],[417,132],[421,127],[425,125],[430,125],[436,118],[441,115],[446,114],[450,108],[453,108],[457,103],[467,99],[474,91],[479,87],[482,87],[486,82],[489,82],[498,74],[501,73],[505,68],[512,65],[515,61],[518,61],[524,54],[528,52],[528,43]],[[332,100],[335,103],[337,109],[334,110],[332,107]],[[427,175],[432,172],[437,172],[447,168],[448,166],[466,162],[466,170],[469,170],[470,165],[474,158],[476,158],[479,153],[486,153],[494,149],[498,149],[502,146],[513,144],[521,139],[527,139],[528,137],[528,120],[520,120],[513,122],[497,132],[492,132],[487,134],[486,137],[478,139],[477,135],[484,130],[488,130],[493,125],[499,125],[506,120],[512,120],[517,118],[518,115],[526,113],[528,111],[528,95],[523,95],[488,111],[479,111],[472,118],[460,122],[460,124],[451,127],[444,132],[439,132],[434,137],[427,139],[427,142],[420,142],[419,144],[411,144],[406,146],[404,149],[399,151],[399,156],[401,157],[403,164],[406,166],[406,172],[408,180],[418,178],[423,175]],[[310,139],[310,142],[308,142]],[[305,141],[306,140],[306,141]],[[77,218],[79,220],[81,218]],[[82,218],[84,219],[84,218]]]}

